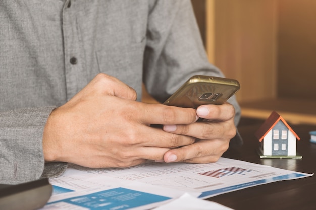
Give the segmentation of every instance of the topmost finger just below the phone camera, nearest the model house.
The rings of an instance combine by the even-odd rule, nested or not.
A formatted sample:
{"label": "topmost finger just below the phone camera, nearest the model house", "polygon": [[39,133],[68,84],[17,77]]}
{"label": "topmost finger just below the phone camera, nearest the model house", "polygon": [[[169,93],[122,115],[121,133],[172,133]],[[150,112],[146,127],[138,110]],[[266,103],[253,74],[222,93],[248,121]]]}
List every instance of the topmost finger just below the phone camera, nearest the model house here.
{"label": "topmost finger just below the phone camera, nearest the model house", "polygon": [[196,114],[198,117],[209,120],[229,120],[235,116],[235,108],[229,103],[222,105],[201,105],[197,107]]}

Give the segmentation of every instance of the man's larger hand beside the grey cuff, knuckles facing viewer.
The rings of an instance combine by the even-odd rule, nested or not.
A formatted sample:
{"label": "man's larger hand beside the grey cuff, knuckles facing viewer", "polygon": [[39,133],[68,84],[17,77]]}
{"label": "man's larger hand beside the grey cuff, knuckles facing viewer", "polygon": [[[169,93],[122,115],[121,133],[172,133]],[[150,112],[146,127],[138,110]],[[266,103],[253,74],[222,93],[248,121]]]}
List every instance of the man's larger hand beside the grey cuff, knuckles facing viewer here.
{"label": "man's larger hand beside the grey cuff, knuckles facing viewer", "polygon": [[[92,168],[129,167],[147,159],[163,160],[170,148],[190,145],[195,137],[202,137],[193,134],[191,137],[191,132],[195,131],[185,136],[150,127],[151,124],[194,123],[197,118],[194,109],[135,100],[136,92],[132,88],[116,78],[98,74],[48,117],[43,135],[45,161]],[[188,128],[194,127],[195,124]],[[183,128],[178,128],[177,132],[184,133]],[[185,148],[181,150],[186,152]],[[188,156],[178,156],[196,157],[192,151]]]}

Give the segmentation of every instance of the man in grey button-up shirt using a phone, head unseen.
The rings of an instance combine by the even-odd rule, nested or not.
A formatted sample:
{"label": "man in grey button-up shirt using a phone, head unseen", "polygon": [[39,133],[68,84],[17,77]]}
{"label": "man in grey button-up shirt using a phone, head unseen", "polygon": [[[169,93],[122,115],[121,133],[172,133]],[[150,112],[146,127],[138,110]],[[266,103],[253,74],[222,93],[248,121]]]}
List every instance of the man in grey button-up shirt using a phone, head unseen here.
{"label": "man in grey button-up shirt using a phone, head unseen", "polygon": [[56,177],[67,162],[215,162],[236,134],[234,97],[197,110],[140,102],[142,82],[163,102],[193,75],[223,76],[190,1],[4,0],[0,27],[1,183]]}

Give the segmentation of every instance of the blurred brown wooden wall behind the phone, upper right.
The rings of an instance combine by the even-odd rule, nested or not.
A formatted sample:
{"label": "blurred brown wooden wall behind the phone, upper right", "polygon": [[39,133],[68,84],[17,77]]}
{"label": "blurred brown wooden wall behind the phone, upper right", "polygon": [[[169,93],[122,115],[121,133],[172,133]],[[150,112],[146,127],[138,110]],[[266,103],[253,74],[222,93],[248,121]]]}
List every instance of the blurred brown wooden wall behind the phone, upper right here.
{"label": "blurred brown wooden wall behind the phone, upper right", "polygon": [[316,1],[191,0],[209,60],[240,102],[316,100]]}

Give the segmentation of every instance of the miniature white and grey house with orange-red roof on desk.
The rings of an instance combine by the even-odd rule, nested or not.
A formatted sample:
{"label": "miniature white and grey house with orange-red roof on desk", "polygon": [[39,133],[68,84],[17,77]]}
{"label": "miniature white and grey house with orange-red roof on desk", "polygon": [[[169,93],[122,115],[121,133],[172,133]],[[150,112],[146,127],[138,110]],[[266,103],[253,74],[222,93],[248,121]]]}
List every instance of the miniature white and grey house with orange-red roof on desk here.
{"label": "miniature white and grey house with orange-red roof on desk", "polygon": [[300,139],[277,112],[273,111],[255,133],[260,142],[260,158],[301,158],[296,153]]}

